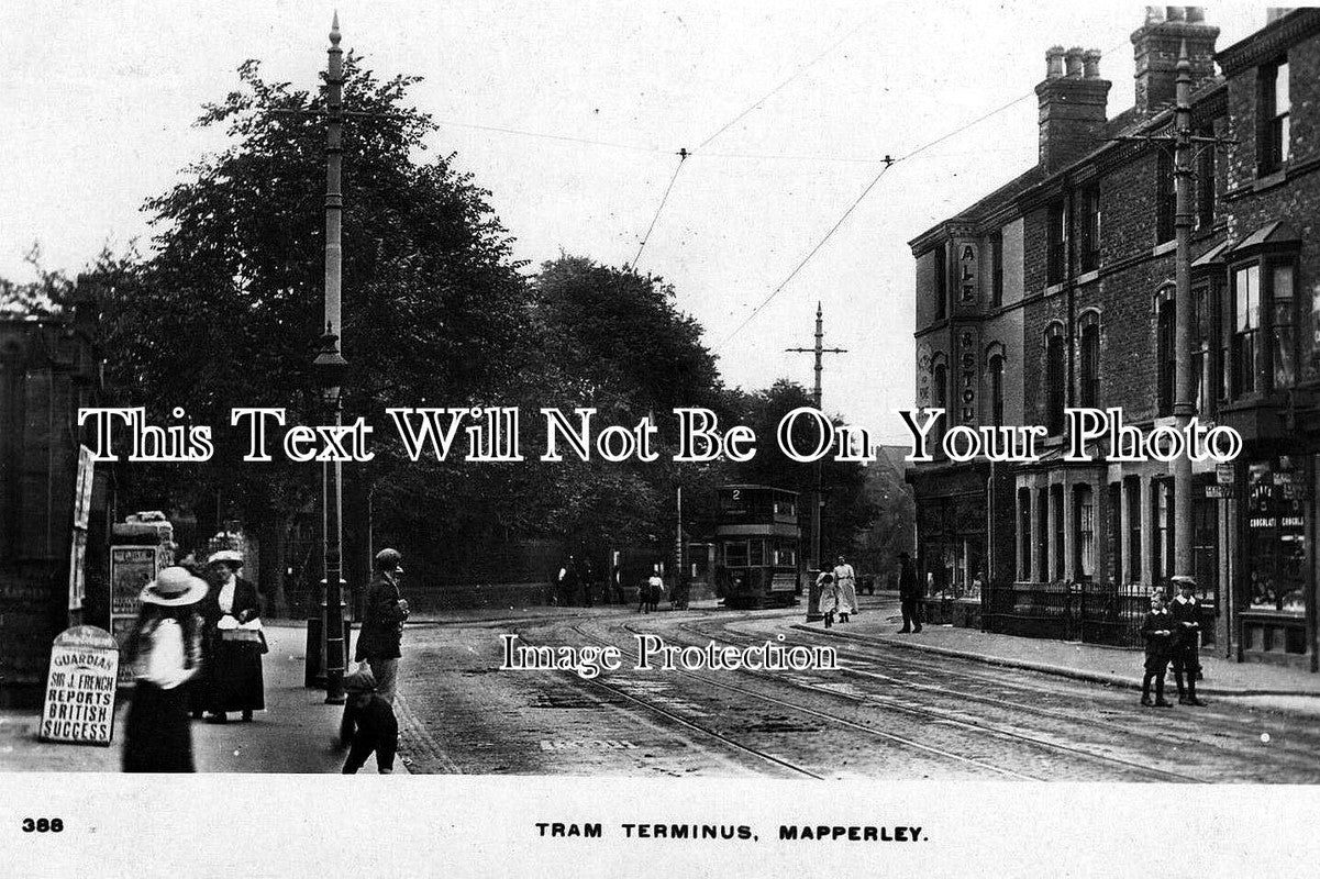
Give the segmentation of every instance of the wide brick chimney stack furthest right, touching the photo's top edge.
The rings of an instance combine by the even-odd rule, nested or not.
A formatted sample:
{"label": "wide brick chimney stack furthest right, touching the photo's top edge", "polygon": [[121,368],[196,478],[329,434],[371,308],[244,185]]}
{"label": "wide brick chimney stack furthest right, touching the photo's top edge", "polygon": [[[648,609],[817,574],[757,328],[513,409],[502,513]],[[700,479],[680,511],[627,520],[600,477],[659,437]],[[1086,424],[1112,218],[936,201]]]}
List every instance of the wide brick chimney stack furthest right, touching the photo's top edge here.
{"label": "wide brick chimney stack furthest right, touching the photo's top edge", "polygon": [[1173,106],[1183,44],[1192,62],[1192,88],[1214,77],[1220,29],[1205,24],[1201,7],[1146,7],[1146,24],[1133,33],[1137,57],[1137,112],[1154,116]]}

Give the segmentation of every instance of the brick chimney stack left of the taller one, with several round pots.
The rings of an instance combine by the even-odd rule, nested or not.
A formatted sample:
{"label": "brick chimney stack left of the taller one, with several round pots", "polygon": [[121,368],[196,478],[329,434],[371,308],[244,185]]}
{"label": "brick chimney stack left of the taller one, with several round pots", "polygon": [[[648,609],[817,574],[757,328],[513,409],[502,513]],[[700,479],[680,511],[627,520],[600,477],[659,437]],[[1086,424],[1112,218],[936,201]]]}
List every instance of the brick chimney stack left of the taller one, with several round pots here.
{"label": "brick chimney stack left of the taller one, with several round pots", "polygon": [[1100,78],[1100,51],[1052,46],[1045,51],[1040,100],[1040,164],[1055,172],[1100,145],[1110,82]]}

